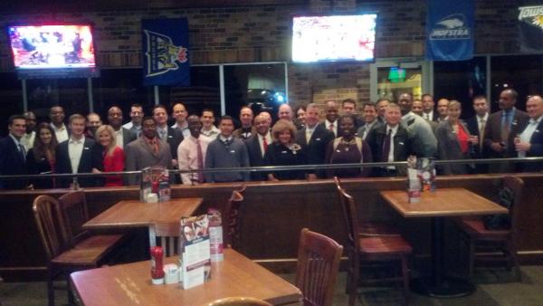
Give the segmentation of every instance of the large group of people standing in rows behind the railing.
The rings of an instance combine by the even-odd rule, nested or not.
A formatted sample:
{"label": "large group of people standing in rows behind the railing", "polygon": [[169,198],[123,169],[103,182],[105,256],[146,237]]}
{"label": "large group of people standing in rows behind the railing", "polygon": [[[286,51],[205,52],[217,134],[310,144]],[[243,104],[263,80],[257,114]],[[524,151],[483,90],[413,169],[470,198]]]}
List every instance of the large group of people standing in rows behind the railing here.
{"label": "large group of people standing in rows behind the railing", "polygon": [[[434,110],[433,97],[424,94],[414,100],[401,93],[397,103],[381,99],[366,102],[357,114],[356,100],[328,100],[324,110],[315,103],[295,111],[282,104],[278,120],[262,111],[254,116],[250,107],[236,120],[222,116],[214,125],[214,110],[205,109],[198,116],[188,115],[185,105],[171,108],[174,125],[168,124],[168,110],[153,108],[145,117],[141,105],[130,108],[130,121],[123,123],[123,113],[113,106],[107,121],[90,113],[73,114],[64,124],[64,110],[53,106],[50,122],[36,125],[33,112],[11,116],[9,135],[0,139],[0,175],[81,174],[138,171],[163,166],[179,169],[178,183],[197,185],[204,182],[247,180],[315,179],[324,177],[393,177],[405,174],[405,168],[338,167],[310,170],[244,171],[243,167],[297,166],[322,164],[367,164],[369,162],[405,161],[419,158],[515,158],[543,156],[543,99],[530,96],[527,113],[515,108],[518,94],[509,89],[500,93],[500,111],[489,113],[488,100],[474,97],[475,116],[460,120],[462,105],[457,100],[439,99]],[[320,120],[321,113],[324,120]],[[540,171],[541,163],[522,167]],[[443,174],[513,172],[512,163],[491,165],[444,164]],[[210,171],[233,168],[230,171]],[[239,171],[237,170],[239,168]],[[205,170],[205,171],[201,171]],[[139,176],[80,177],[77,180],[49,177],[0,181],[4,189],[80,186],[122,186],[138,184]]]}

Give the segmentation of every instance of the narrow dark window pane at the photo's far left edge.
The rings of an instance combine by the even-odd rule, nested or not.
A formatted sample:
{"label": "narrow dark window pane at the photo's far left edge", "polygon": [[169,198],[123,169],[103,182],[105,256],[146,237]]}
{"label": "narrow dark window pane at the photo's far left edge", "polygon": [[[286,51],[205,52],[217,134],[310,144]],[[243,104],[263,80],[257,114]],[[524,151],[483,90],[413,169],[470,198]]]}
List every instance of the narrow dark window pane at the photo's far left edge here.
{"label": "narrow dark window pane at the photo's far left edge", "polygon": [[23,112],[23,91],[16,73],[0,73],[0,136],[7,135],[9,116]]}

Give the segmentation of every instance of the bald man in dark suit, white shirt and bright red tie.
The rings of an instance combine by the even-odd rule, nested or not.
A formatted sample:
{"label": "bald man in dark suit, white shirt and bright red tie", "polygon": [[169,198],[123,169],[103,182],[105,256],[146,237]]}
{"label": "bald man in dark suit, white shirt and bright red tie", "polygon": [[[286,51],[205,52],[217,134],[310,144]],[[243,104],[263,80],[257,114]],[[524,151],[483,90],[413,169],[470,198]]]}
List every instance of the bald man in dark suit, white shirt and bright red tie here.
{"label": "bald man in dark suit, white shirt and bright red tie", "polygon": [[[268,148],[273,141],[273,139],[271,139],[270,126],[271,116],[266,111],[262,111],[254,119],[256,134],[245,140],[251,167],[264,166],[264,153],[266,153],[266,148]],[[251,179],[254,181],[264,181],[268,179],[268,176],[263,171],[252,172]]]}

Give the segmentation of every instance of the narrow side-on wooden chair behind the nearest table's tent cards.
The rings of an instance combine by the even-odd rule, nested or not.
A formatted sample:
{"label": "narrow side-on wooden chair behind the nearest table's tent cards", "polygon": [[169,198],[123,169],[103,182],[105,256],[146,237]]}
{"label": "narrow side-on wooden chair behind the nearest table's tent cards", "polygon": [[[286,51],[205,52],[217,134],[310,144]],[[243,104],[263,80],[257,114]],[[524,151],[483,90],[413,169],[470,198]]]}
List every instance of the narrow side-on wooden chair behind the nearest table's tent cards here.
{"label": "narrow side-on wooden chair behind the nearest table's tent cards", "polygon": [[233,190],[232,196],[226,202],[223,211],[223,233],[224,233],[224,246],[231,247],[234,250],[239,250],[241,241],[241,228],[242,218],[240,212],[242,211],[243,192],[245,186],[240,189]]}

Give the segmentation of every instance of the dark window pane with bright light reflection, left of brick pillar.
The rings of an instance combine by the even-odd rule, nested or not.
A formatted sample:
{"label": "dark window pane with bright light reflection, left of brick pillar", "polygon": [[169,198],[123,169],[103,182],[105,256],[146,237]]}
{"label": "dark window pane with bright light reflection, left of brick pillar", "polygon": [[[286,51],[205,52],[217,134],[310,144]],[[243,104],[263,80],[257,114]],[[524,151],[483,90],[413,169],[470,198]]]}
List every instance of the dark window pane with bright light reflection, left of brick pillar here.
{"label": "dark window pane with bright light reflection, left of brick pillar", "polygon": [[226,113],[234,118],[243,105],[275,116],[286,99],[285,88],[284,63],[224,66]]}

